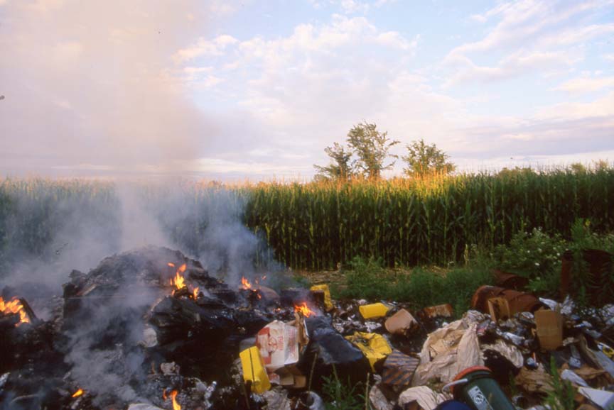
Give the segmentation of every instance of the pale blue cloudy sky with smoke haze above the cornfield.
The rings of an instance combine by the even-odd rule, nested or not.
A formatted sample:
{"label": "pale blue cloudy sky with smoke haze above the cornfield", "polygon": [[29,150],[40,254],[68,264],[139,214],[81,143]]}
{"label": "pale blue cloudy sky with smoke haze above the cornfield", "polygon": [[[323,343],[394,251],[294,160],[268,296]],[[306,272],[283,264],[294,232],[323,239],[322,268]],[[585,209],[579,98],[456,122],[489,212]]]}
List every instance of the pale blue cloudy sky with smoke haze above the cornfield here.
{"label": "pale blue cloudy sky with smoke haze above the cornfield", "polygon": [[362,121],[611,162],[614,1],[0,0],[0,175],[305,180]]}

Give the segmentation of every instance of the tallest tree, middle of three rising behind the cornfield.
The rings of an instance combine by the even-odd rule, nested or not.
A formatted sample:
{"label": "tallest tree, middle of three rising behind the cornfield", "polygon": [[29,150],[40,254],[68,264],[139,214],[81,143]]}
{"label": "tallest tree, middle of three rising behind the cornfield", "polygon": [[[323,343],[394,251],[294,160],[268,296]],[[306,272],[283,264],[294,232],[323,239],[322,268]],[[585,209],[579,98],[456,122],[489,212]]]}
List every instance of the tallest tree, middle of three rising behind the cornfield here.
{"label": "tallest tree, middle of three rising behind the cornfield", "polygon": [[394,161],[384,165],[387,157],[397,157],[389,153],[393,145],[399,141],[390,140],[387,132],[377,131],[377,126],[367,122],[352,127],[348,133],[348,145],[356,154],[357,170],[370,179],[381,177],[383,170],[389,170]]}

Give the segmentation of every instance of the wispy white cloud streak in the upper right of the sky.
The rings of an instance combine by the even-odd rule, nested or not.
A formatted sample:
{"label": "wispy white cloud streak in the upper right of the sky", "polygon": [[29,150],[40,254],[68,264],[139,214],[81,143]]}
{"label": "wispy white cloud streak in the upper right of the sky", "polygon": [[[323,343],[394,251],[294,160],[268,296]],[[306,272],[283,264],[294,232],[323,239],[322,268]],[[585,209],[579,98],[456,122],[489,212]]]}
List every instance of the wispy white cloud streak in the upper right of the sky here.
{"label": "wispy white cloud streak in the upper right of the sky", "polygon": [[[508,79],[534,72],[554,69],[557,64],[571,67],[583,60],[578,46],[593,38],[614,32],[614,24],[583,23],[586,15],[598,14],[611,2],[606,0],[543,2],[520,0],[505,2],[483,14],[471,16],[485,23],[499,21],[478,41],[453,48],[443,60],[444,66],[460,67],[448,78],[446,86],[462,82]],[[573,20],[575,18],[575,20]],[[503,54],[495,65],[478,65],[473,55],[492,59]]]}

